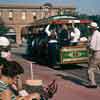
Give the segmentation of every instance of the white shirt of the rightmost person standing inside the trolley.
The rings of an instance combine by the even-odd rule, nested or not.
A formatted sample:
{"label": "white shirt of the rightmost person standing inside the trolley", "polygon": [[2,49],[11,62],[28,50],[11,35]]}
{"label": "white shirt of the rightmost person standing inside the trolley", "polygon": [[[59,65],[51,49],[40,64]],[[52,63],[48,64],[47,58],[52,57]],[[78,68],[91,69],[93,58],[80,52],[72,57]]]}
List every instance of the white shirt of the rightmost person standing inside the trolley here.
{"label": "white shirt of the rightmost person standing inside the trolley", "polygon": [[74,32],[71,32],[71,37],[73,37],[71,42],[78,42],[80,38],[80,30],[75,27]]}

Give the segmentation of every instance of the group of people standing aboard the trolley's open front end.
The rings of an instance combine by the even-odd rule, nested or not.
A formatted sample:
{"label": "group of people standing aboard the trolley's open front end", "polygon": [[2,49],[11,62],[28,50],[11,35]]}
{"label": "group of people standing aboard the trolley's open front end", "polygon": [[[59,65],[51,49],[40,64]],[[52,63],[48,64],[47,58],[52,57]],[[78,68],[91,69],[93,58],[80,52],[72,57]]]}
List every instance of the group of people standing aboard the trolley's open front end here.
{"label": "group of people standing aboard the trolley's open front end", "polygon": [[78,45],[81,32],[78,27],[66,24],[59,25],[58,28],[48,25],[45,32],[48,35],[48,64],[51,67],[57,67],[58,48]]}

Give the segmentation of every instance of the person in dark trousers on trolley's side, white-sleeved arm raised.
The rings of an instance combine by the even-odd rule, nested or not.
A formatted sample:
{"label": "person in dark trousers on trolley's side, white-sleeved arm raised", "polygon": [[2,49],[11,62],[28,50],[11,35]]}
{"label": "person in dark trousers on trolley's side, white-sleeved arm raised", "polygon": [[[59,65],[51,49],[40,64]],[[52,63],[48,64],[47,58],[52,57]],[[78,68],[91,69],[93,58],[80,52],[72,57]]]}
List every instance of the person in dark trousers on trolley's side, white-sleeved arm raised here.
{"label": "person in dark trousers on trolley's side, white-sleeved arm raised", "polygon": [[48,35],[48,64],[50,67],[57,67],[57,33],[56,29],[50,29],[48,25],[45,29],[45,32]]}

